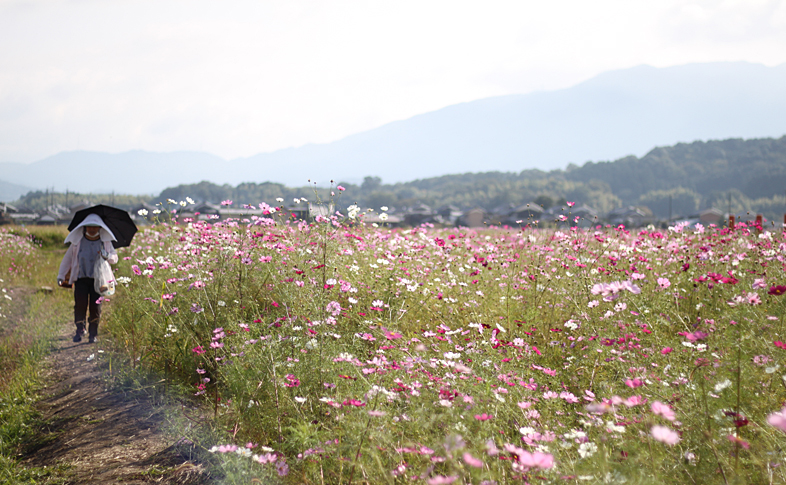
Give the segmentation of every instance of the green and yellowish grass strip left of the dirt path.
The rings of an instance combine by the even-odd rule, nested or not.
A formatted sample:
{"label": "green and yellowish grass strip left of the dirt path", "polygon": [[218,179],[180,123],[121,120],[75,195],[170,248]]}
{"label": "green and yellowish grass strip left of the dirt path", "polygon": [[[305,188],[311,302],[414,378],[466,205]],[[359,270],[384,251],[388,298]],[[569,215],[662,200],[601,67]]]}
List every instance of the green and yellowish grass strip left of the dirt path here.
{"label": "green and yellowish grass strip left of the dirt path", "polygon": [[[65,293],[40,291],[56,274],[58,254],[40,249],[24,228],[0,228],[0,483],[60,483],[65,467],[21,466],[18,456],[35,446],[42,359],[70,309]],[[41,241],[41,240],[38,240]],[[62,243],[62,239],[60,239]],[[62,253],[60,254],[62,256]]]}

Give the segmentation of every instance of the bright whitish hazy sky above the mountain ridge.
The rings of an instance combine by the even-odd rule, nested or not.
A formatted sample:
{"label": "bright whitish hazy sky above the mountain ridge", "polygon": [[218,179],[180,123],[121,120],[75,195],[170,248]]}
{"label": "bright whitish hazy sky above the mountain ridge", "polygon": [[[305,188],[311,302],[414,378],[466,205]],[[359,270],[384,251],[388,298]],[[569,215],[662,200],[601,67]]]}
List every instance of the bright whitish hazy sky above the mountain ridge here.
{"label": "bright whitish hazy sky above the mountain ridge", "polygon": [[0,0],[0,162],[249,156],[612,69],[740,60],[786,62],[786,0]]}

